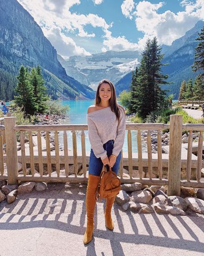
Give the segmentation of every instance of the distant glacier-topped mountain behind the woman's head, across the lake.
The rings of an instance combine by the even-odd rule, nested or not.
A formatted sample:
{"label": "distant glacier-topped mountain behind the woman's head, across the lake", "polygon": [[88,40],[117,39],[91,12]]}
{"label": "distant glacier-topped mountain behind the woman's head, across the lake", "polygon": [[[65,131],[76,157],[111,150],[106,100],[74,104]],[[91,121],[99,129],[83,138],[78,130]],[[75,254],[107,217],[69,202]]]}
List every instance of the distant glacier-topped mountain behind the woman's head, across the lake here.
{"label": "distant glacier-topped mountain behind the woman's head, across the lake", "polygon": [[68,75],[96,90],[100,80],[107,78],[116,83],[134,70],[141,54],[139,51],[106,51],[85,57],[71,56],[68,60],[60,55],[57,58]]}

